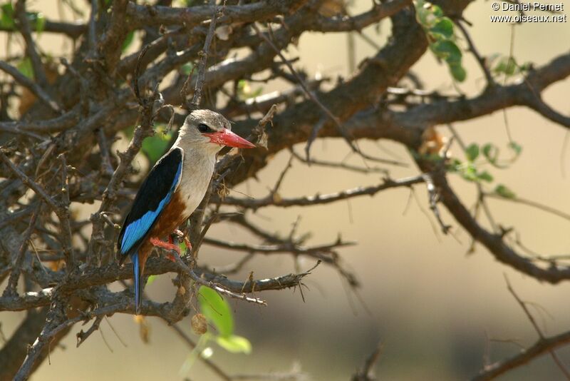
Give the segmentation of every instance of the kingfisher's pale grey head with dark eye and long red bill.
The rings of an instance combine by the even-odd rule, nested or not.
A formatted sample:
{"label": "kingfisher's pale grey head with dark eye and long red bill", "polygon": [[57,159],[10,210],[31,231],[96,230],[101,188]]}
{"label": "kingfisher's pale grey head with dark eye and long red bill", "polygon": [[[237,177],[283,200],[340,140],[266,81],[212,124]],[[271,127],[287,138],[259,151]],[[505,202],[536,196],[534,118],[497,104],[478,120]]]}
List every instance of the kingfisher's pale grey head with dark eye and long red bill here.
{"label": "kingfisher's pale grey head with dark eye and long red bill", "polygon": [[182,146],[202,146],[213,152],[223,146],[255,148],[254,144],[232,132],[232,126],[224,116],[210,110],[192,111],[179,136]]}

